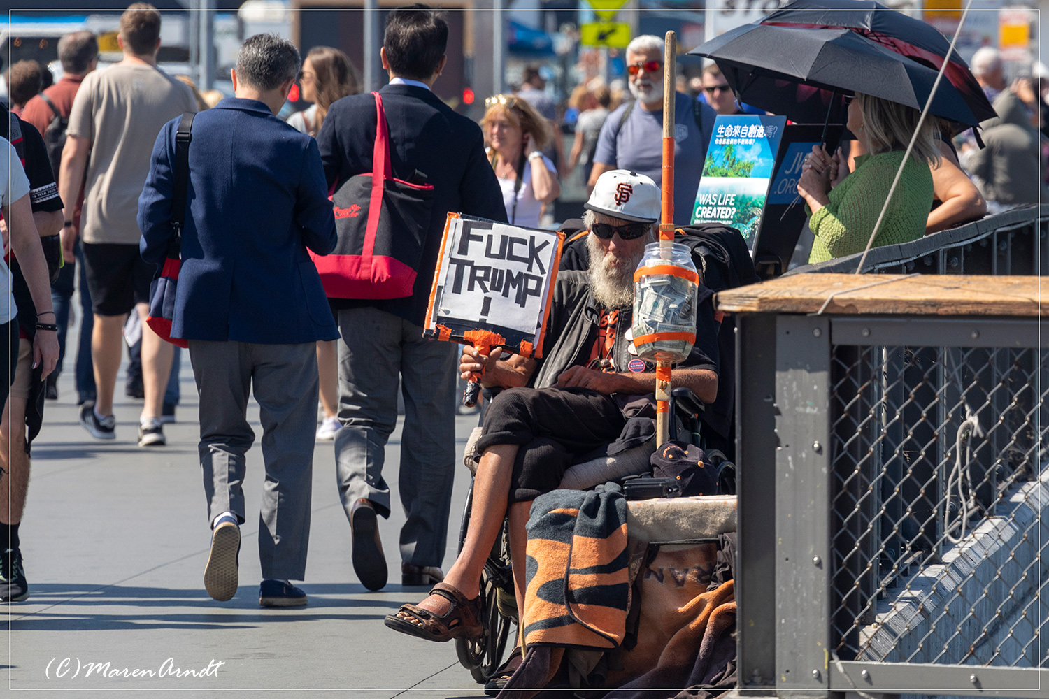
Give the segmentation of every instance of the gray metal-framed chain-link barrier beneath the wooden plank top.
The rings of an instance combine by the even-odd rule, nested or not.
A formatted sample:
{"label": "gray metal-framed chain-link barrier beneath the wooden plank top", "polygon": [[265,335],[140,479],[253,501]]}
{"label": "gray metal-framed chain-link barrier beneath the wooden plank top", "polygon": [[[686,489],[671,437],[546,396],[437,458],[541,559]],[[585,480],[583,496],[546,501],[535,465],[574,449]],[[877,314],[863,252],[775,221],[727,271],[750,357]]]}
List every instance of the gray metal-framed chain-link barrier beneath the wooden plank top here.
{"label": "gray metal-framed chain-link barrier beneath the wooden plank top", "polygon": [[740,686],[1049,697],[1049,323],[737,327]]}

